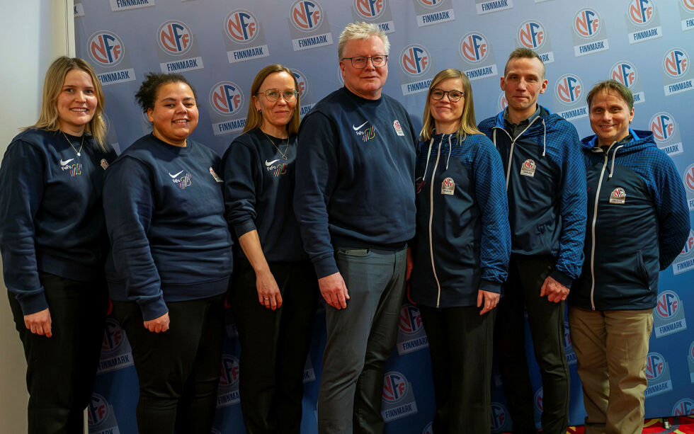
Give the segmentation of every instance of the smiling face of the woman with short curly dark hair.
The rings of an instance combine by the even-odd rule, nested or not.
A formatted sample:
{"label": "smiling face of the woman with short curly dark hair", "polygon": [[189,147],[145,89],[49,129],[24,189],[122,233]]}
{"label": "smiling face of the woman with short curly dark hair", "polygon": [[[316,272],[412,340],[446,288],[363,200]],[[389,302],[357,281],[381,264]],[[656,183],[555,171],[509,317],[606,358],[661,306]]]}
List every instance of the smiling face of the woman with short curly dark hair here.
{"label": "smiling face of the woman with short curly dark hair", "polygon": [[147,109],[154,136],[174,146],[186,146],[186,139],[198,126],[198,105],[193,91],[185,83],[162,84],[154,98],[154,108]]}

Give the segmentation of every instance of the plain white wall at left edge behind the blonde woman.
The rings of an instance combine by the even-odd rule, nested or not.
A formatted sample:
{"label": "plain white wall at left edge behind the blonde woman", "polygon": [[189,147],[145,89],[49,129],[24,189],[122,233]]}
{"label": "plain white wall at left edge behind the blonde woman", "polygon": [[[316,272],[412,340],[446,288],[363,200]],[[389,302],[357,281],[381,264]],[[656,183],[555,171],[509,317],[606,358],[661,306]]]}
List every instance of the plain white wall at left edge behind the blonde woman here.
{"label": "plain white wall at left edge behind the blonde woman", "polygon": [[[5,153],[18,127],[38,119],[43,76],[52,59],[74,56],[75,51],[72,0],[2,3],[0,83],[4,103],[0,104],[0,154]],[[26,363],[5,294],[0,279],[0,433],[25,433]]]}

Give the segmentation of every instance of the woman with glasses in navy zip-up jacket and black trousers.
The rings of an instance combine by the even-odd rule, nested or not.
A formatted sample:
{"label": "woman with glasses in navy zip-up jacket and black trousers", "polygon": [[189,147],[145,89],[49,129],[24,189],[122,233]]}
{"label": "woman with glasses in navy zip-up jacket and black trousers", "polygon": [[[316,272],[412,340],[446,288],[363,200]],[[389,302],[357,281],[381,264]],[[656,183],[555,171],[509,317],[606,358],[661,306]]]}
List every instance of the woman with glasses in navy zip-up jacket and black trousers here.
{"label": "woman with glasses in navy zip-up jacket and black trousers", "polygon": [[415,167],[410,297],[428,336],[435,433],[489,433],[492,336],[511,253],[504,171],[465,73],[434,77]]}

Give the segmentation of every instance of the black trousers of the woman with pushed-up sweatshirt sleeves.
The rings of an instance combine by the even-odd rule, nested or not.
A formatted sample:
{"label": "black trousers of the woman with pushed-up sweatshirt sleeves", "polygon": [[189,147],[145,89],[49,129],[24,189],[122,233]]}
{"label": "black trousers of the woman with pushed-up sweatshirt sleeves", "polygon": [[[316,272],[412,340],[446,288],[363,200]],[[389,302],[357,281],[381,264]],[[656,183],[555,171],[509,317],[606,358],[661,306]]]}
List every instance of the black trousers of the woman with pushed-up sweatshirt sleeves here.
{"label": "black trousers of the woman with pushed-up sweatshirt sleeves", "polygon": [[234,265],[232,310],[241,343],[241,413],[249,434],[298,434],[318,280],[309,261],[268,265],[282,295],[282,307],[275,311],[258,303],[250,263],[241,259]]}

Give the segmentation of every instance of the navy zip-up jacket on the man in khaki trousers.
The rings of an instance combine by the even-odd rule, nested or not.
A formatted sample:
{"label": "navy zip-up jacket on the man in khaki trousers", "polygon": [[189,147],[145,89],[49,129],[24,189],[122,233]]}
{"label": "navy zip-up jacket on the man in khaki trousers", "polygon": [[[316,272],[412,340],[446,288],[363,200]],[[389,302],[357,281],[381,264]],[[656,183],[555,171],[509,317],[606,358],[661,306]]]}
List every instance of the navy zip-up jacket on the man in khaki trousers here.
{"label": "navy zip-up jacket on the man in khaki trousers", "polygon": [[588,174],[586,262],[569,303],[584,309],[652,309],[658,271],[689,235],[686,193],[650,131],[630,130],[607,152],[582,140]]}

